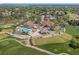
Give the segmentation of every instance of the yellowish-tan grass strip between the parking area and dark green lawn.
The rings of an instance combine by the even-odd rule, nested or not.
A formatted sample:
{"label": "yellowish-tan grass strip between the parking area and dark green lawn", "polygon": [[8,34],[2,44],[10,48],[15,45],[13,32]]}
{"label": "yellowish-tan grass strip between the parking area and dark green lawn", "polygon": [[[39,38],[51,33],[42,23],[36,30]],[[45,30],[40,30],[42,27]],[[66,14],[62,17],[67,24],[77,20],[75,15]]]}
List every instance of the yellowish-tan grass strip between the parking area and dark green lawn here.
{"label": "yellowish-tan grass strip between the parking area and dark green lawn", "polygon": [[58,36],[52,36],[48,38],[42,38],[42,39],[33,39],[34,45],[45,45],[50,43],[64,43],[72,39],[72,36],[69,34],[61,34]]}

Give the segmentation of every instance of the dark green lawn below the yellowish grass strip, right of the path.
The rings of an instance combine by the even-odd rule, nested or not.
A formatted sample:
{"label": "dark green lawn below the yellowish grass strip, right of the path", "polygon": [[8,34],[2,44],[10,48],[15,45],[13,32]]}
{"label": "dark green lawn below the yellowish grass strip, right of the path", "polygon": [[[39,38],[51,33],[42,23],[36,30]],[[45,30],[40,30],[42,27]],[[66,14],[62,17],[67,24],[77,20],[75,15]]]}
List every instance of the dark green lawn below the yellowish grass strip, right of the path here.
{"label": "dark green lawn below the yellowish grass strip, right of the path", "polygon": [[68,43],[47,44],[47,45],[41,45],[38,47],[46,49],[51,52],[54,52],[56,54],[68,53],[71,55],[79,55],[79,49],[73,49],[73,48],[69,47]]}

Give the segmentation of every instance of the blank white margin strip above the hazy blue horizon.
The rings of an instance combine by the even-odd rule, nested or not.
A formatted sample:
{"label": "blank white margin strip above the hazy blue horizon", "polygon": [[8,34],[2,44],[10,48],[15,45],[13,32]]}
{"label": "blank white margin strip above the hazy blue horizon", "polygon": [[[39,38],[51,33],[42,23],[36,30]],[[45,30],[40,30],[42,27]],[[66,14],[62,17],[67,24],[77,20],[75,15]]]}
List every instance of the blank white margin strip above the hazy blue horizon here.
{"label": "blank white margin strip above the hazy blue horizon", "polygon": [[79,0],[0,0],[0,3],[79,3]]}

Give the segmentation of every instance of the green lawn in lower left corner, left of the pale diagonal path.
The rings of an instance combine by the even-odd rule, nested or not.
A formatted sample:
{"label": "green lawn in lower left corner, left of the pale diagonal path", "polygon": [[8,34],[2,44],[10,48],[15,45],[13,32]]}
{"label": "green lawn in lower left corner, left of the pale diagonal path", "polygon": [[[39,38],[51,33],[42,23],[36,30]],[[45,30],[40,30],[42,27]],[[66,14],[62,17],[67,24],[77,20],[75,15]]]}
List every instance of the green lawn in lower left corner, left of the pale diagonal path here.
{"label": "green lawn in lower left corner, left of the pale diagonal path", "polygon": [[0,40],[0,55],[46,55],[46,53],[24,47],[13,40],[15,38],[6,37]]}

